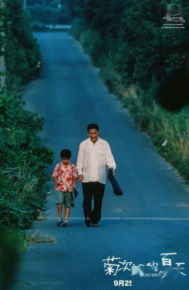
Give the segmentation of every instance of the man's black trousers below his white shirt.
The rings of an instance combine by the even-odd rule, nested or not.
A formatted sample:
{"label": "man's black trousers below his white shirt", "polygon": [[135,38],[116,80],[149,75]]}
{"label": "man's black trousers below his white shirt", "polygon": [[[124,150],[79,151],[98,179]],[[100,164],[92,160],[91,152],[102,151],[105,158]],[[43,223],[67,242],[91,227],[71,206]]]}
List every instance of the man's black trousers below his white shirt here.
{"label": "man's black trousers below his white shirt", "polygon": [[[104,196],[105,184],[100,182],[82,182],[83,188],[83,213],[85,218],[90,218],[93,224],[101,219],[102,199]],[[92,210],[92,197],[94,209]]]}

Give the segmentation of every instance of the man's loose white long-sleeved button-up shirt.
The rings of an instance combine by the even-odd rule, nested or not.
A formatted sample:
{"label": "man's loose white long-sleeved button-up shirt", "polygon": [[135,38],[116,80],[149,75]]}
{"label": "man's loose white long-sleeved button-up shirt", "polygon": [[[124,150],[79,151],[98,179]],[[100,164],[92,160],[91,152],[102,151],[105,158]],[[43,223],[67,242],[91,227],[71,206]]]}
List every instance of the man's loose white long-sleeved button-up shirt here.
{"label": "man's loose white long-sleeved button-up shirt", "polygon": [[106,184],[106,165],[115,170],[116,164],[110,145],[98,138],[95,144],[90,138],[81,142],[77,157],[78,175],[83,174],[83,182],[100,182]]}

